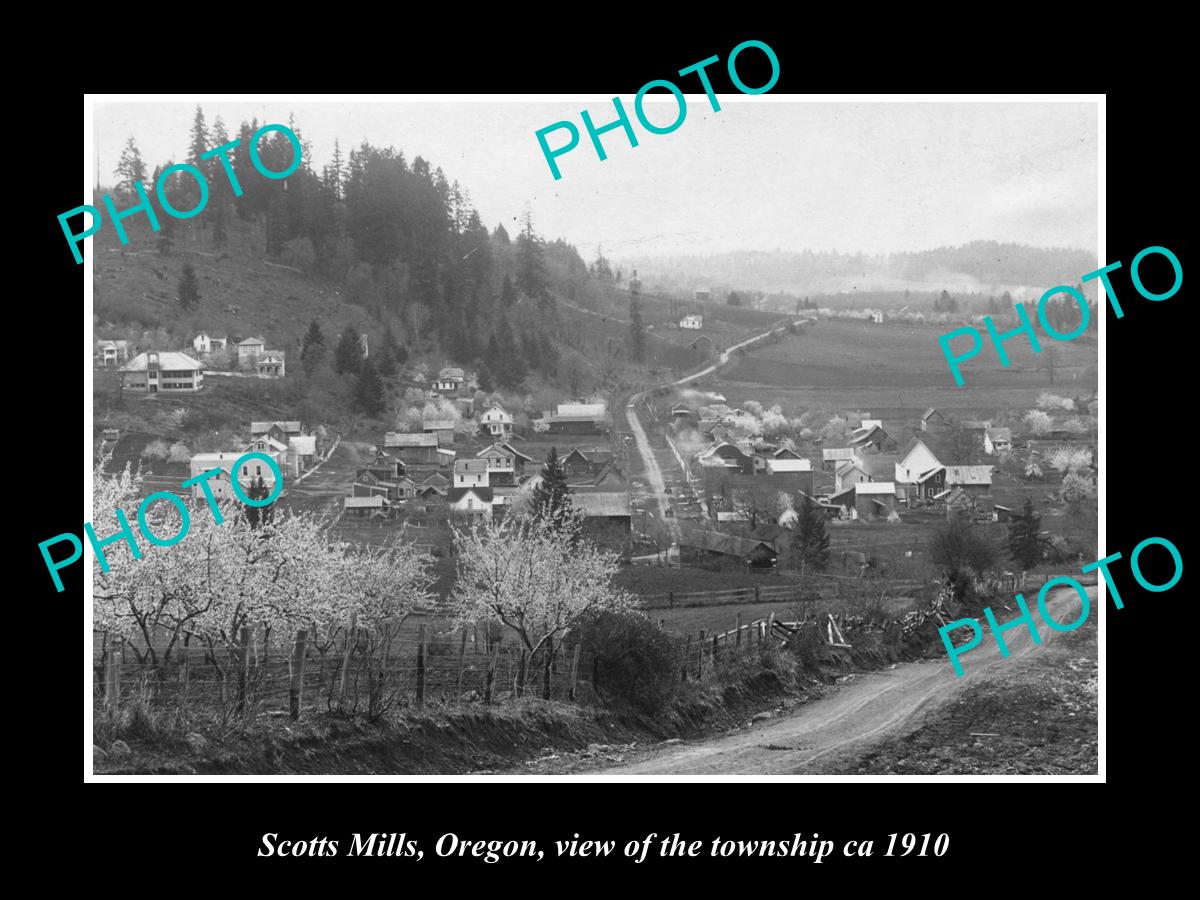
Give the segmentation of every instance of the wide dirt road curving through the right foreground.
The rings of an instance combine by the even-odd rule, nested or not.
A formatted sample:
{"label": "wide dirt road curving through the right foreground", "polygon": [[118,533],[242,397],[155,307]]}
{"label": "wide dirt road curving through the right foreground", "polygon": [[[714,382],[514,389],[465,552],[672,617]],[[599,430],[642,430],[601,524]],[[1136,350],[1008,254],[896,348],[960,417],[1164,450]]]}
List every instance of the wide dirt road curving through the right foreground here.
{"label": "wide dirt road curving through the right foreground", "polygon": [[[1087,588],[1096,616],[1094,587]],[[1034,598],[1026,598],[1031,608]],[[1070,588],[1050,595],[1051,614],[1062,623],[1079,614],[1079,598]],[[1037,612],[1034,611],[1037,618]],[[1043,643],[1054,640],[1040,622]],[[823,757],[852,744],[869,743],[941,704],[964,685],[992,677],[1003,667],[1020,665],[1038,653],[1024,626],[1004,632],[1010,649],[1006,659],[984,623],[983,643],[960,660],[966,674],[955,678],[947,659],[910,662],[883,672],[859,674],[835,694],[802,707],[778,721],[748,731],[648,751],[641,760],[602,769],[606,775],[797,775]]]}

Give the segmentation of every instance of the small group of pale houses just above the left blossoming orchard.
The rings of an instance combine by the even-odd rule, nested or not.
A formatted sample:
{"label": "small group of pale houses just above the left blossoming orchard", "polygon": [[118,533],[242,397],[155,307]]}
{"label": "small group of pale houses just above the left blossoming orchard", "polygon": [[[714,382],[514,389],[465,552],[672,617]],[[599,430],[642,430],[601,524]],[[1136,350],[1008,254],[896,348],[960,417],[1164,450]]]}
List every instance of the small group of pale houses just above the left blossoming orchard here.
{"label": "small group of pale houses just above the left blossoming orchard", "polygon": [[[192,478],[210,469],[221,469],[221,474],[208,480],[212,496],[217,498],[233,497],[233,479],[236,478],[242,490],[262,484],[274,490],[275,473],[270,464],[259,458],[242,462],[241,472],[234,472],[234,463],[248,452],[265,454],[275,461],[284,478],[299,478],[317,464],[324,448],[317,434],[305,433],[299,421],[262,421],[250,424],[250,440],[240,450],[223,450],[212,454],[196,454],[190,467]],[[192,486],[192,496],[197,499],[204,496],[200,484]]]}

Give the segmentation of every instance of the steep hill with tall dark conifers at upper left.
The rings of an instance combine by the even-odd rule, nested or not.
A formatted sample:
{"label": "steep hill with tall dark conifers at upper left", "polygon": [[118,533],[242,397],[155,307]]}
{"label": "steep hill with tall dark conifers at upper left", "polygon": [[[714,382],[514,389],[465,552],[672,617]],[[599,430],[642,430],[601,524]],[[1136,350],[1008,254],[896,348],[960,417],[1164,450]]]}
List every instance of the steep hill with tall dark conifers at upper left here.
{"label": "steep hill with tall dark conifers at upper left", "polygon": [[[557,340],[556,298],[575,296],[589,278],[574,247],[540,238],[528,211],[517,234],[488,229],[464,186],[432,161],[391,146],[362,143],[346,152],[335,144],[332,161],[314,172],[300,121],[289,127],[305,148],[301,167],[265,179],[247,150],[259,125],[232,131],[241,139],[230,158],[245,191],[235,197],[220,161],[200,158],[230,140],[230,130],[220,119],[206,122],[197,108],[188,157],[179,162],[205,173],[204,210],[186,221],[160,211],[157,233],[145,215],[132,216],[128,246],[108,226],[94,239],[97,337],[140,337],[143,346],[152,331],[160,342],[186,347],[198,331],[254,335],[299,356],[319,319],[332,337],[353,326],[371,332],[372,348],[480,367],[499,386],[554,376],[570,355]],[[288,138],[268,133],[260,157],[271,170],[287,169]],[[151,168],[131,136],[115,184],[98,193],[112,193],[118,209],[133,206],[134,184],[152,190],[173,162]],[[198,204],[197,190],[182,173],[166,186],[181,210]],[[194,270],[197,298],[180,290],[186,266]],[[289,373],[299,368],[295,356],[289,353]]]}

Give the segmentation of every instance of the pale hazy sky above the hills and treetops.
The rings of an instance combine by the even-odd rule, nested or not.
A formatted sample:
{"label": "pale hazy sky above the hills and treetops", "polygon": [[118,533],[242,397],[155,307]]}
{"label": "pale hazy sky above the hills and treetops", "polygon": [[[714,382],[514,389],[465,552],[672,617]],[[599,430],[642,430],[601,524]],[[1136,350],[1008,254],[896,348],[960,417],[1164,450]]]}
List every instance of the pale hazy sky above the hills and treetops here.
{"label": "pale hazy sky above the hills and treetops", "polygon": [[[652,95],[653,96],[653,95]],[[668,124],[676,103],[647,102]],[[320,172],[338,138],[421,155],[466,187],[487,226],[534,226],[586,259],[726,250],[925,250],[978,239],[1097,248],[1094,103],[804,103],[763,95],[688,96],[671,134],[644,131],[622,97],[638,146],[622,130],[592,149],[580,119],[614,119],[611,100],[522,102],[202,102],[228,130],[257,116],[288,121],[312,143]],[[194,102],[97,102],[101,180],[128,136],[152,168],[182,160]],[[559,120],[580,145],[554,181],[534,132]],[[552,146],[565,132],[550,136]],[[510,229],[512,230],[512,229]]]}

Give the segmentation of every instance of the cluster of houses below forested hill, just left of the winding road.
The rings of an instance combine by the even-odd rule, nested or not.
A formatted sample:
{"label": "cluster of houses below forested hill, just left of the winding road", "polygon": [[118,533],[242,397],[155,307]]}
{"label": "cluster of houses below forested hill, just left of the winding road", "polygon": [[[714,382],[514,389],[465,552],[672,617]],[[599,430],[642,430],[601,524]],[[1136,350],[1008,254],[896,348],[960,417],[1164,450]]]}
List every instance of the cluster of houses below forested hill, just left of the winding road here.
{"label": "cluster of houses below forested hill, just left of the winding road", "polygon": [[[442,396],[445,371],[434,383]],[[604,404],[563,403],[546,413],[552,433],[601,433]],[[545,452],[515,446],[512,416],[491,403],[479,416],[479,433],[462,436],[450,420],[426,419],[420,431],[388,432],[374,458],[355,473],[343,515],[350,520],[386,520],[401,511],[444,512],[460,520],[499,518],[541,481]],[[474,450],[480,443],[482,449]],[[470,449],[467,449],[467,448]],[[628,550],[632,536],[629,482],[608,448],[560,446],[568,486],[583,511],[584,534],[613,548]]]}

